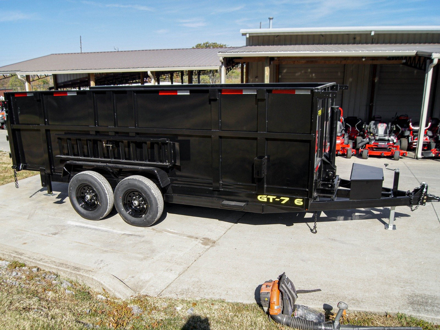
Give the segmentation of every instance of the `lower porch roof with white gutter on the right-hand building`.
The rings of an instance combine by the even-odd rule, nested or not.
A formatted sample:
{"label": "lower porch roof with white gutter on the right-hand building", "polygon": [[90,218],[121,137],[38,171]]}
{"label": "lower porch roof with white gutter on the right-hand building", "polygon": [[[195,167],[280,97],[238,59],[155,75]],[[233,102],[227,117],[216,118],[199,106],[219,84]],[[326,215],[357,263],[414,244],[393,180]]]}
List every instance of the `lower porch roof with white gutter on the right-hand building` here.
{"label": "lower porch roof with white gutter on the right-hand building", "polygon": [[297,56],[429,56],[438,58],[440,44],[341,44],[243,46],[219,52],[221,57]]}

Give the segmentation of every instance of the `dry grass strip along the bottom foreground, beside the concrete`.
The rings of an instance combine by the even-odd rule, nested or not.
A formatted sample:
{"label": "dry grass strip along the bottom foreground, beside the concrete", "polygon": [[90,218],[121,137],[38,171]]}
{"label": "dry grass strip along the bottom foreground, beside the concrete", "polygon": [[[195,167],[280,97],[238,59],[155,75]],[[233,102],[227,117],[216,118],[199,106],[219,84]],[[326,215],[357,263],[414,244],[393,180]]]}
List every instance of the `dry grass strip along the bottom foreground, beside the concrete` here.
{"label": "dry grass strip along the bottom foreground, beside the concrete", "polygon": [[[269,322],[257,304],[147,296],[123,301],[106,293],[103,295],[107,299],[100,300],[99,293],[70,280],[72,286],[67,290],[73,293],[66,292],[63,279],[57,277],[52,282],[55,274],[42,270],[33,272],[32,268],[17,261],[0,267],[1,329],[288,329]],[[135,315],[132,305],[137,305],[142,312]],[[344,323],[440,329],[403,314],[352,312],[347,314]]]}

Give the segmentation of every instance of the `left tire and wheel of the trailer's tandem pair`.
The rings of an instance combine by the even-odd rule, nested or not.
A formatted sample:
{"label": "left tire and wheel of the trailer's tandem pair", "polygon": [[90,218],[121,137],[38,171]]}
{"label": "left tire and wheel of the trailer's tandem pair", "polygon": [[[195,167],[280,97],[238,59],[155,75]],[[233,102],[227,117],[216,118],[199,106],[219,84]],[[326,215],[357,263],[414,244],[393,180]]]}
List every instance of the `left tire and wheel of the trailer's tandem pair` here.
{"label": "left tire and wheel of the trailer's tandem pair", "polygon": [[101,220],[113,208],[113,189],[101,174],[84,171],[73,176],[68,188],[70,204],[84,219]]}

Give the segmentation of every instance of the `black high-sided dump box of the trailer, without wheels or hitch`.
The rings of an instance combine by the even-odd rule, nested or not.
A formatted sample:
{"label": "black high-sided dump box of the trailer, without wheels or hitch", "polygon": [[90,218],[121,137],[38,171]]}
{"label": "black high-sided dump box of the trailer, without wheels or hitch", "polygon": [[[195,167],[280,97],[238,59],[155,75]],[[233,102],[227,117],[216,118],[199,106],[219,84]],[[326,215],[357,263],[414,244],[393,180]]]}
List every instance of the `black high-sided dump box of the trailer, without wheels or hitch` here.
{"label": "black high-sided dump box of the trailer, without wheels or hitch", "polygon": [[[112,186],[166,173],[165,200],[282,212],[307,209],[328,153],[335,84],[98,87],[7,93],[13,163],[68,182],[113,165]],[[92,165],[91,165],[92,164]],[[119,167],[118,167],[119,166]],[[42,179],[43,180],[43,179]]]}

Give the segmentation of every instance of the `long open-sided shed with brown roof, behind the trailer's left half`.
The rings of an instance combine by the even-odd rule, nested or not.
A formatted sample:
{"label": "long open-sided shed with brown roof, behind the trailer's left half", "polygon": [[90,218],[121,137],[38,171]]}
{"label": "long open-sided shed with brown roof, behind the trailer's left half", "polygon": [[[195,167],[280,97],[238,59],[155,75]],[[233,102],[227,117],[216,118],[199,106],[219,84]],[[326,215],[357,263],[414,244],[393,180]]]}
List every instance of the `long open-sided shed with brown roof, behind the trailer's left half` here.
{"label": "long open-sided shed with brown roof, behind the trailer's left half", "polygon": [[54,88],[95,85],[200,83],[200,75],[218,71],[219,51],[228,48],[154,49],[51,54],[0,67],[4,77],[17,74],[32,81],[53,76]]}

